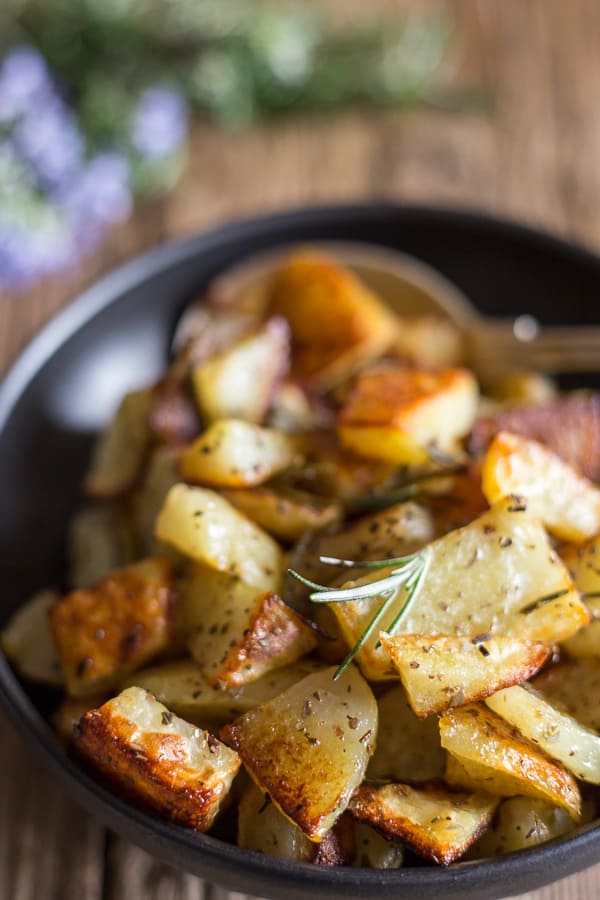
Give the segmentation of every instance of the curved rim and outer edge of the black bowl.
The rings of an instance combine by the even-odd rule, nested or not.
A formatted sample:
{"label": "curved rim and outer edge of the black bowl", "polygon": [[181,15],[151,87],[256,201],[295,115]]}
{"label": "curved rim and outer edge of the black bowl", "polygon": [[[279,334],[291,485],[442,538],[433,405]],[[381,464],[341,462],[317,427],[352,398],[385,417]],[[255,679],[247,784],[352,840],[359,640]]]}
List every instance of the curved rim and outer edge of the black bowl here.
{"label": "curved rim and outer edge of the black bowl", "polygon": [[[30,381],[62,344],[97,314],[118,303],[122,295],[139,288],[158,274],[167,272],[196,254],[207,256],[212,249],[226,245],[233,247],[250,236],[285,233],[286,228],[310,226],[317,222],[319,225],[334,225],[342,219],[383,221],[398,216],[406,219],[434,217],[448,225],[459,221],[481,225],[488,232],[512,235],[520,241],[540,245],[549,252],[560,251],[563,255],[571,256],[576,264],[591,264],[598,270],[600,281],[600,256],[588,247],[510,217],[495,216],[474,208],[370,201],[300,206],[236,219],[217,228],[161,244],[136,256],[94,282],[52,316],[18,354],[0,384],[0,434]],[[373,243],[386,246],[382,242]],[[315,894],[315,891],[321,889],[324,894],[334,896],[338,889],[344,895],[358,897],[365,890],[368,892],[377,889],[385,893],[401,891],[399,896],[414,897],[416,891],[437,889],[442,892],[440,896],[458,897],[459,890],[481,888],[483,879],[490,890],[486,896],[491,898],[505,896],[505,893],[495,893],[498,890],[522,890],[533,881],[542,886],[565,877],[591,865],[594,862],[593,851],[600,851],[598,824],[591,823],[578,829],[572,836],[556,838],[538,847],[493,859],[458,862],[447,869],[409,867],[381,871],[290,862],[242,850],[210,835],[199,835],[126,803],[116,793],[95,781],[65,752],[63,745],[27,696],[1,650],[0,705],[17,731],[26,739],[28,746],[69,788],[70,794],[77,789],[76,799],[88,811],[99,815],[105,822],[110,813],[111,825],[116,822],[121,833],[171,864],[174,861],[168,849],[173,842],[182,850],[196,851],[199,860],[206,862],[204,868],[209,873],[212,870],[212,877],[217,873],[216,877],[222,883],[228,881],[225,871],[230,870],[229,883],[234,885],[233,889],[245,890],[241,885],[246,883],[247,886],[247,878],[251,875],[255,879],[253,883],[260,881],[265,887],[268,886],[270,896],[286,896],[286,893],[290,897],[300,896],[308,891]],[[197,872],[200,873],[202,868],[199,865]],[[522,880],[525,870],[527,884]],[[211,874],[207,877],[211,877]],[[290,878],[294,881],[293,892],[289,890]],[[287,885],[287,891],[284,890],[284,885]],[[452,888],[456,893],[452,893]],[[408,893],[409,890],[412,891],[411,894]],[[433,897],[430,893],[427,896]]]}

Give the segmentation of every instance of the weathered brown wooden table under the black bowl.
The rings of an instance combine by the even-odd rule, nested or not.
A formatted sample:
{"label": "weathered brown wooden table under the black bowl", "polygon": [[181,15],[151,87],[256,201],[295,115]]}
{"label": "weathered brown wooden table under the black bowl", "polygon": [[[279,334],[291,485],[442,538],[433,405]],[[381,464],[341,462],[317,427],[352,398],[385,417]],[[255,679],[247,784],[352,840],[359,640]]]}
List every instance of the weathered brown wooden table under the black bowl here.
{"label": "weathered brown wooden table under the black bowl", "polygon": [[[394,9],[415,2],[383,2]],[[371,0],[330,0],[340,18]],[[142,248],[233,217],[360,198],[475,206],[600,249],[600,3],[439,0],[459,23],[459,77],[483,83],[484,112],[434,110],[297,119],[194,135],[185,179],[113,233],[83,270],[0,300],[0,367],[76,290]],[[2,900],[218,900],[108,833],[49,781],[2,720]],[[239,896],[239,895],[237,895]],[[528,900],[592,900],[600,865]]]}

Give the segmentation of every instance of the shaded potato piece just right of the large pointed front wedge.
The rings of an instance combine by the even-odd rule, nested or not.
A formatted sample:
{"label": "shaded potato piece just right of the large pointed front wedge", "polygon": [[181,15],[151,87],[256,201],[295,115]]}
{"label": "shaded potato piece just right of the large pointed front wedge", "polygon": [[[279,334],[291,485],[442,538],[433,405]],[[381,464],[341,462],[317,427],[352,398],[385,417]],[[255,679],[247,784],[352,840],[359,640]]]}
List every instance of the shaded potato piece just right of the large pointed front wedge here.
{"label": "shaded potato piece just right of the large pointed front wedge", "polygon": [[401,684],[394,685],[377,701],[377,746],[367,769],[374,781],[423,784],[442,778],[446,751],[434,716],[419,719],[408,703]]}

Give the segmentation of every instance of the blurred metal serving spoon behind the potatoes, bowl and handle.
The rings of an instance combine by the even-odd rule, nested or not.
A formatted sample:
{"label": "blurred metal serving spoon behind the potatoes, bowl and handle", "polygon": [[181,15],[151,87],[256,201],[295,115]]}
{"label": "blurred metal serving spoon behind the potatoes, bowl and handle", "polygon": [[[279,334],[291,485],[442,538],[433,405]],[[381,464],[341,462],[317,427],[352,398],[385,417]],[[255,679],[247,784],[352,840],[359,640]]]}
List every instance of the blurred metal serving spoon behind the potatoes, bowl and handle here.
{"label": "blurred metal serving spoon behind the potatoes, bowl and handle", "polygon": [[[526,312],[514,319],[487,318],[455,284],[415,257],[352,241],[315,241],[306,247],[322,249],[348,266],[399,315],[436,315],[453,322],[463,335],[467,362],[484,380],[522,369],[600,371],[600,326],[546,326]],[[285,245],[246,258],[220,275],[211,290],[221,296],[265,291],[274,272],[299,249],[303,246]],[[175,349],[192,315],[193,307],[182,316]]]}

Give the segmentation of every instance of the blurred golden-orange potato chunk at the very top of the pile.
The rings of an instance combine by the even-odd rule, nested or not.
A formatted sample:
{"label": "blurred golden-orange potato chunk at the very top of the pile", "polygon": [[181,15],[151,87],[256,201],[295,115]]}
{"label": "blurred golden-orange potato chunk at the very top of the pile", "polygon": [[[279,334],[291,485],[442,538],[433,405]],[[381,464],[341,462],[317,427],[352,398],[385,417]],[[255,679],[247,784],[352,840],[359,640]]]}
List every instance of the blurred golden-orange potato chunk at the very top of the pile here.
{"label": "blurred golden-orange potato chunk at the very top of the pile", "polygon": [[292,373],[320,388],[382,353],[398,330],[379,297],[324,253],[291,256],[273,281],[269,302],[290,324]]}

